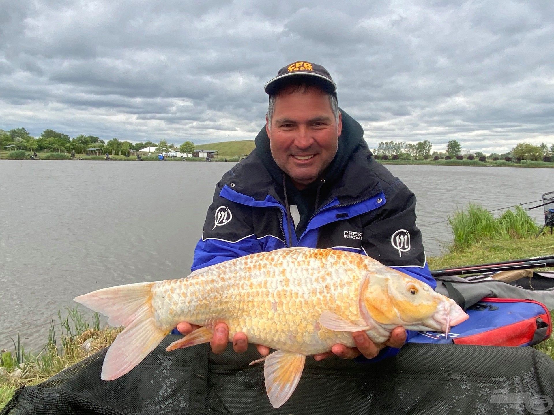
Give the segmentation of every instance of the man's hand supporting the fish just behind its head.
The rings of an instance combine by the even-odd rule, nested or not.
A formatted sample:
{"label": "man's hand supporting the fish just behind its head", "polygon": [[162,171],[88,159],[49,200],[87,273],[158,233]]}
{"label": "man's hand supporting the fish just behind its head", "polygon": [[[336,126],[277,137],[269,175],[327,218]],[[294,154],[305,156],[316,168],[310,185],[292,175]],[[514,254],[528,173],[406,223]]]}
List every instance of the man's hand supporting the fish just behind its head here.
{"label": "man's hand supporting the fish just behind its head", "polygon": [[314,359],[323,360],[333,355],[342,357],[342,359],[354,359],[354,357],[360,355],[367,357],[367,359],[373,359],[373,357],[376,357],[386,346],[399,349],[406,343],[406,330],[402,327],[395,327],[391,331],[391,337],[381,344],[373,343],[364,331],[356,331],[356,333],[352,333],[352,335],[356,347],[346,347],[343,344],[335,344],[331,347],[331,351],[314,355]]}

